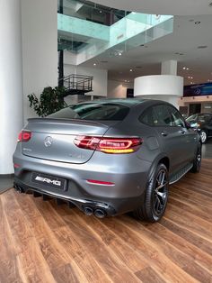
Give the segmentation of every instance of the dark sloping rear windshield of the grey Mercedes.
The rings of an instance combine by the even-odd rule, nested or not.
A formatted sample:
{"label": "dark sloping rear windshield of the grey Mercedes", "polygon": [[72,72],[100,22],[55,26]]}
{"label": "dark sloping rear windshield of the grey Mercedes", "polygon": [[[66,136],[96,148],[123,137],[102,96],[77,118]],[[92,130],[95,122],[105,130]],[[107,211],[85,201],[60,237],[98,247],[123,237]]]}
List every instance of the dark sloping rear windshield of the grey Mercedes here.
{"label": "dark sloping rear windshield of the grey Mercedes", "polygon": [[128,115],[128,112],[129,107],[125,105],[86,103],[70,105],[54,114],[50,114],[48,117],[57,119],[122,121]]}

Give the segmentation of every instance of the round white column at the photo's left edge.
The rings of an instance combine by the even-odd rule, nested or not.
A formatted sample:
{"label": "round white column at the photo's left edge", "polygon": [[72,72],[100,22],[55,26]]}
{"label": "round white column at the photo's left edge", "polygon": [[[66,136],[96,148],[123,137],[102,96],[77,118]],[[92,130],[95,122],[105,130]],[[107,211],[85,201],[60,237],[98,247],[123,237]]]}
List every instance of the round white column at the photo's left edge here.
{"label": "round white column at the photo's left edge", "polygon": [[13,151],[22,129],[20,0],[1,0],[0,11],[0,174],[11,174]]}

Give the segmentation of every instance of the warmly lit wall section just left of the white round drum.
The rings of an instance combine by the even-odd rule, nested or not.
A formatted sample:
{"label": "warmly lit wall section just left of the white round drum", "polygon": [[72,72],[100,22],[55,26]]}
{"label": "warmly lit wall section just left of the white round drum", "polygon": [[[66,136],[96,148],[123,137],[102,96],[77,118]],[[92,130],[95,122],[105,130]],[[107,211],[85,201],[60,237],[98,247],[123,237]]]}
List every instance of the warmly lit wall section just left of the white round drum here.
{"label": "warmly lit wall section just left of the white round drum", "polygon": [[127,88],[133,88],[132,84],[122,84],[116,80],[108,81],[108,97],[110,98],[126,98]]}

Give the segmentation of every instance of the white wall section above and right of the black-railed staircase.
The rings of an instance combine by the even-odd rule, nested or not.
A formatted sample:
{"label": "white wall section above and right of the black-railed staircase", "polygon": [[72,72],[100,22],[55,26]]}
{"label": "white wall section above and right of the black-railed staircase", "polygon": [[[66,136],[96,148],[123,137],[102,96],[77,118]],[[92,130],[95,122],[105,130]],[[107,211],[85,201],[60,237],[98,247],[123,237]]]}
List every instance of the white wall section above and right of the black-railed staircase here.
{"label": "white wall section above and right of the black-railed staircase", "polygon": [[108,93],[108,71],[99,68],[85,68],[70,64],[64,65],[64,75],[71,74],[93,76],[93,92],[89,96],[107,96]]}

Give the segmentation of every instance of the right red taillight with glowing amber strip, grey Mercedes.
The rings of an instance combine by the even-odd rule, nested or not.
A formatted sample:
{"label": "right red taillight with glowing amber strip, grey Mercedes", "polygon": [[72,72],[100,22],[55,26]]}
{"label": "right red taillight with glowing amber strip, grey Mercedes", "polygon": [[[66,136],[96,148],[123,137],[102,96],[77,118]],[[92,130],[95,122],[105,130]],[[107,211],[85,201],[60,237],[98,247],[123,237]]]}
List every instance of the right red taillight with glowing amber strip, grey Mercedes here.
{"label": "right red taillight with glowing amber strip, grey Mercedes", "polygon": [[140,138],[104,138],[92,136],[77,136],[75,138],[75,145],[77,147],[105,153],[135,152],[142,142]]}

